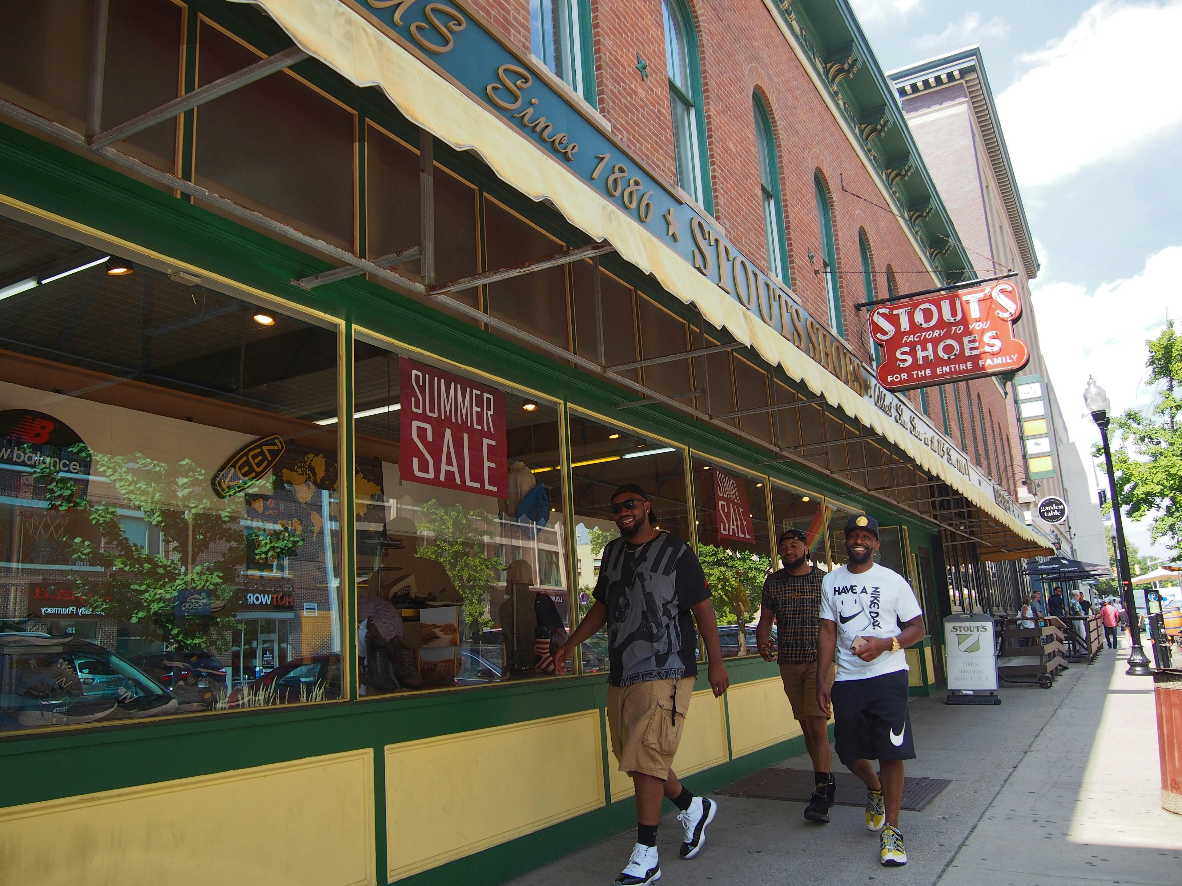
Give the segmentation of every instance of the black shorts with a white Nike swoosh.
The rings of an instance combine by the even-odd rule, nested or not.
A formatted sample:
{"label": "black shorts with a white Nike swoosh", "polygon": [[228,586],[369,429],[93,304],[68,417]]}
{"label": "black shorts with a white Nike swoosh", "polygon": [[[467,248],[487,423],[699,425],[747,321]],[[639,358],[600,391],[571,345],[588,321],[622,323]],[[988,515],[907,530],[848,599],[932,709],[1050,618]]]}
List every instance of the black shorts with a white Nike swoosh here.
{"label": "black shorts with a white Nike swoosh", "polygon": [[833,737],[844,766],[855,760],[915,760],[908,672],[833,684]]}

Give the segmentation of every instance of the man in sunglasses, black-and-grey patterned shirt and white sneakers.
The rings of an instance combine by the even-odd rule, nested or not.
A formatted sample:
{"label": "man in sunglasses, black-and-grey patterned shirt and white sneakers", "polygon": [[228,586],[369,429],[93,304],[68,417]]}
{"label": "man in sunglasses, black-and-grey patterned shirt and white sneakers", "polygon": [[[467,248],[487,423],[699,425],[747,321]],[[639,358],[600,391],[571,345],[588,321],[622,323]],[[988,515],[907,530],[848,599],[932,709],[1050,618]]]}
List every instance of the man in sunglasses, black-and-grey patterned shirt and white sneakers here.
{"label": "man in sunglasses, black-and-grey patterned shirt and white sneakers", "polygon": [[603,549],[595,605],[554,653],[561,673],[580,643],[608,626],[608,725],[619,770],[636,786],[636,846],[616,878],[618,886],[648,886],[661,879],[657,825],[664,797],[681,810],[681,858],[691,859],[706,843],[706,827],[717,807],[694,796],[677,781],[677,753],[690,693],[697,676],[697,634],[709,659],[707,676],[715,697],[730,680],[722,665],[719,626],[706,575],[693,549],[656,528],[656,514],[641,487],[626,483],[611,495],[619,529]]}

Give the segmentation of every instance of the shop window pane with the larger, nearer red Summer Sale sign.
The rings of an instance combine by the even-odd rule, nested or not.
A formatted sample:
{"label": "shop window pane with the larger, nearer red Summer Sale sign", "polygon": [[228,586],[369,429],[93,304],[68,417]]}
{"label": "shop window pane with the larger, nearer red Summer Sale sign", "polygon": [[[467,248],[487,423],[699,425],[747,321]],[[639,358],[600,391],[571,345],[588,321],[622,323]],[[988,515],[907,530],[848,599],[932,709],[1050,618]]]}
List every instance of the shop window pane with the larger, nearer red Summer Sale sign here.
{"label": "shop window pane with the larger, nearer red Summer Sale sign", "polygon": [[376,338],[353,367],[361,693],[556,676],[572,607],[557,405]]}

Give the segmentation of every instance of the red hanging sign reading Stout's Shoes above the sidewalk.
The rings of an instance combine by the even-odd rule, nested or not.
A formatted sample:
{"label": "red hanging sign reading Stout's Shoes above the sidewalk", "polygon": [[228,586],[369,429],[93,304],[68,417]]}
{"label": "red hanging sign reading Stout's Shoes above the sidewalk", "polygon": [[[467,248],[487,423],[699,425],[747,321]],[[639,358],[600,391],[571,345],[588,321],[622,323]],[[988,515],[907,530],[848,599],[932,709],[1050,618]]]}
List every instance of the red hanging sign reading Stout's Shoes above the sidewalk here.
{"label": "red hanging sign reading Stout's Shoes above the sidewalk", "polygon": [[1030,360],[1014,338],[1021,313],[1006,281],[881,305],[870,312],[884,354],[878,384],[902,391],[1020,370]]}

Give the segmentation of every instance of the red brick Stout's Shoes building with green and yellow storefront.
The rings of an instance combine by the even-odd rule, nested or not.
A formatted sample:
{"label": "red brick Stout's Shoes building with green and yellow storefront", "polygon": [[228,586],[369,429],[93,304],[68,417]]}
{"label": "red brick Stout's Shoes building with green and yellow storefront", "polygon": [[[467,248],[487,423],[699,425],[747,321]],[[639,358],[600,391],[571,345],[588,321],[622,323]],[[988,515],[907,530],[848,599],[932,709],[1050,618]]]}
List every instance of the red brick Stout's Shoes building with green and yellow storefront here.
{"label": "red brick Stout's Shoes building with green and yellow storefront", "polygon": [[[495,884],[630,827],[606,638],[538,652],[623,483],[767,569],[877,519],[917,695],[1050,551],[996,383],[877,382],[857,305],[987,268],[846,0],[14,5],[0,156],[14,881]],[[695,791],[804,750],[714,605]]]}

